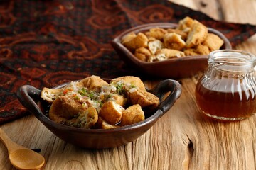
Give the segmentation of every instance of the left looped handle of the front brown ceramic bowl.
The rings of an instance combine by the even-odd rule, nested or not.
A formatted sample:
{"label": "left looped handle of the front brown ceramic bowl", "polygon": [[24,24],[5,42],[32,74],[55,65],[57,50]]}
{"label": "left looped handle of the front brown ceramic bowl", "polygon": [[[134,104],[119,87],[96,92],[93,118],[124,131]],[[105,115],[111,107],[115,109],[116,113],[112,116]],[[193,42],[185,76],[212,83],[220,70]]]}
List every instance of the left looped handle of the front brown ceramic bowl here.
{"label": "left looped handle of the front brown ceramic bowl", "polygon": [[20,101],[21,104],[25,106],[28,111],[33,113],[37,118],[39,115],[43,115],[39,114],[41,113],[41,109],[36,104],[36,102],[39,101],[40,96],[41,90],[36,89],[30,85],[21,86],[17,91],[18,101]]}

